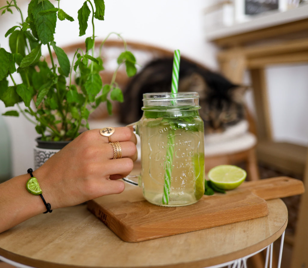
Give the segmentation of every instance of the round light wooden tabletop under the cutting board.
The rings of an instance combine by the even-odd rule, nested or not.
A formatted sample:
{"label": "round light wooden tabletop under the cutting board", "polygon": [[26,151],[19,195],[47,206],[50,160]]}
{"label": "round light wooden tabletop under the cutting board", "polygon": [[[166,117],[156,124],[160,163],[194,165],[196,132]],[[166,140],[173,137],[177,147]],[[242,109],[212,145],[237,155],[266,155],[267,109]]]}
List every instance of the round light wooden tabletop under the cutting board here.
{"label": "round light wooden tabletop under the cutting board", "polygon": [[262,218],[136,243],[118,238],[86,205],[57,209],[0,234],[0,259],[42,268],[213,266],[253,254],[282,235],[286,206],[281,199],[267,203]]}

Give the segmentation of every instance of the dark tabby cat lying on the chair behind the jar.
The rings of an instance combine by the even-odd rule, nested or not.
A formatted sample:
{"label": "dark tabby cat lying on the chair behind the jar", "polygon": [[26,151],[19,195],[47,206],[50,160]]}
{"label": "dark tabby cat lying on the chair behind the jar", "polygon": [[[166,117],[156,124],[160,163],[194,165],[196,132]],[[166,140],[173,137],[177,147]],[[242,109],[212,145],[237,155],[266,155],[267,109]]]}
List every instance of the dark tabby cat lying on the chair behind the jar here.
{"label": "dark tabby cat lying on the chair behind the jar", "polygon": [[[141,118],[143,93],[171,91],[172,64],[172,58],[154,60],[132,78],[120,105],[121,123],[130,124]],[[184,58],[180,61],[178,91],[199,93],[205,133],[221,132],[244,118],[245,88]]]}

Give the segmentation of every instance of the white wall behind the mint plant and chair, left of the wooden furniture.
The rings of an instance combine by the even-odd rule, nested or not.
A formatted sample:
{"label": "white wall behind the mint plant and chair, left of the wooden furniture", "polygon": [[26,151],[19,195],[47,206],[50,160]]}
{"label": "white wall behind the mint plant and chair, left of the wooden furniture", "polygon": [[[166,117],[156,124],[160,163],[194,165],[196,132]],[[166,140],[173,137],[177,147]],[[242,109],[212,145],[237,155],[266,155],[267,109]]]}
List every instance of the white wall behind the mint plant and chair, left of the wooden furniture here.
{"label": "white wall behind the mint plant and chair, left of the wooden furniture", "polygon": [[[20,2],[20,1],[17,1]],[[51,1],[54,5],[55,1]],[[58,22],[55,41],[58,45],[67,45],[83,41],[91,35],[87,30],[85,37],[78,37],[79,26],[77,11],[84,1],[62,0],[61,8],[71,15],[75,22]],[[215,2],[206,1],[206,4]],[[73,4],[72,4],[73,3]],[[140,41],[167,49],[180,49],[181,54],[216,68],[213,45],[206,43],[203,32],[203,0],[105,0],[105,21],[95,22],[96,34],[103,39],[114,31],[121,33],[126,40]],[[23,6],[26,17],[26,5]],[[5,14],[0,17],[0,45],[7,48],[4,34],[11,27],[9,22],[20,21],[18,15]],[[45,50],[46,51],[46,48]],[[0,102],[0,112],[9,110]],[[13,175],[25,173],[33,167],[34,127],[23,117],[5,117],[11,132]]]}

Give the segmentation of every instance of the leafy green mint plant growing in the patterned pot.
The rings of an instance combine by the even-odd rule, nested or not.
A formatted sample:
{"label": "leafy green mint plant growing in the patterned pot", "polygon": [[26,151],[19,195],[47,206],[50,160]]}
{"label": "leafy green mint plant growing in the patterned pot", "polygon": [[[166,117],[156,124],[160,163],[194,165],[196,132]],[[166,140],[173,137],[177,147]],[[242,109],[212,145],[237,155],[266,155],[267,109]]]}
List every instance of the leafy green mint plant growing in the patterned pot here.
{"label": "leafy green mint plant growing in the patterned pot", "polygon": [[[81,128],[89,129],[88,116],[100,103],[106,102],[111,114],[111,101],[123,102],[122,91],[115,83],[116,74],[124,64],[127,75],[135,75],[136,59],[117,34],[124,42],[124,51],[117,59],[118,66],[111,83],[103,85],[101,50],[110,34],[101,43],[99,55],[95,56],[94,19],[104,20],[105,3],[103,0],[86,0],[78,10],[79,36],[85,34],[89,19],[92,35],[85,39],[86,51],[77,49],[71,63],[64,50],[57,46],[54,34],[57,22],[74,21],[74,18],[60,8],[60,0],[56,1],[57,7],[48,0],[31,0],[25,20],[16,0],[7,1],[0,7],[2,15],[16,9],[21,17],[21,23],[10,27],[5,34],[9,37],[10,52],[0,48],[0,100],[6,107],[17,104],[17,110],[3,115],[19,116],[22,113],[36,125],[42,140],[73,140]],[[51,66],[42,60],[44,45],[48,48]],[[58,64],[54,62],[52,50]],[[15,73],[21,83],[13,78]],[[25,109],[21,108],[20,102],[25,104]]]}

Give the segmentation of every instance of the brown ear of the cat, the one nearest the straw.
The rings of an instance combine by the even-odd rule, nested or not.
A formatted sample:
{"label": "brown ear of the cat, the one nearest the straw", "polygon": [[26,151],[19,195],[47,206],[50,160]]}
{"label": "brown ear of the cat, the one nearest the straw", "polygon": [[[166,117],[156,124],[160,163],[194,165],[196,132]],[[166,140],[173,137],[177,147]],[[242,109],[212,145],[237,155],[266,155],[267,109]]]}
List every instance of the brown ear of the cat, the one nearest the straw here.
{"label": "brown ear of the cat, the one nearest the straw", "polygon": [[209,87],[205,82],[203,76],[199,73],[192,73],[190,76],[183,78],[179,87],[182,87],[181,91],[197,92],[200,99],[204,99],[209,92]]}

